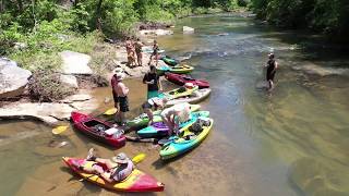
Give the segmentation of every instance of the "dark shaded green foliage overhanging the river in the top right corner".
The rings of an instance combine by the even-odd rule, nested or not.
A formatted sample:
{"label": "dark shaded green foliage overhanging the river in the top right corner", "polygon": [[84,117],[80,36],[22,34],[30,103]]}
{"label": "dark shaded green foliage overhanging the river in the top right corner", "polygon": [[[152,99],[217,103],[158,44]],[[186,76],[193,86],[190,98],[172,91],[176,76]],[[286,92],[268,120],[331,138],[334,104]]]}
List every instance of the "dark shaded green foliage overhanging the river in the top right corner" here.
{"label": "dark shaded green foliage overhanging the river in the top right corner", "polygon": [[333,38],[346,38],[349,33],[347,0],[252,0],[260,19],[292,28],[309,27]]}

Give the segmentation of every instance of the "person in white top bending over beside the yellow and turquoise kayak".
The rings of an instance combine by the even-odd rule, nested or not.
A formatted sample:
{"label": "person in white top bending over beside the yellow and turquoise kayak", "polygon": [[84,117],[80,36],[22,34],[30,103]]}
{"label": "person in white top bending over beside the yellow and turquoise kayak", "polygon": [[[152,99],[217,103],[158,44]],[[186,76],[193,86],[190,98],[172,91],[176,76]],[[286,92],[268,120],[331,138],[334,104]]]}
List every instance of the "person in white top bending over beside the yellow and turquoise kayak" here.
{"label": "person in white top bending over beside the yellow and turquoise kayak", "polygon": [[163,122],[169,127],[169,135],[174,132],[179,134],[179,124],[191,119],[190,105],[188,102],[178,103],[161,112]]}

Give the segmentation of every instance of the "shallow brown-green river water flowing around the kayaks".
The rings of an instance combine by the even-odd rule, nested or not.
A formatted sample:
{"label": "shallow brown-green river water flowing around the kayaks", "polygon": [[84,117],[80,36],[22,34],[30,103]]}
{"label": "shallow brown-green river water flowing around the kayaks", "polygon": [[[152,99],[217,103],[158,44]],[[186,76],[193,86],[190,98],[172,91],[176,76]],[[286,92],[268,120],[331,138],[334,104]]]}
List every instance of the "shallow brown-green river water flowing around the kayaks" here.
{"label": "shallow brown-green river water flowing around the kayaks", "polygon": [[[183,35],[182,25],[195,33]],[[137,167],[164,182],[166,195],[349,195],[349,60],[320,39],[236,15],[179,21],[174,35],[158,41],[168,54],[190,57],[192,75],[210,82],[202,108],[214,128],[200,147],[170,162],[160,161],[152,144],[128,143],[117,151],[145,152]],[[280,68],[268,94],[263,65],[270,50]],[[140,79],[127,84],[132,115],[145,87]],[[108,88],[96,96],[100,111],[111,106],[103,103]],[[111,195],[75,183],[60,161],[85,156],[89,147],[108,157],[111,148],[71,130],[53,137],[37,122],[1,122],[0,134],[1,195]],[[63,140],[69,145],[51,147]]]}

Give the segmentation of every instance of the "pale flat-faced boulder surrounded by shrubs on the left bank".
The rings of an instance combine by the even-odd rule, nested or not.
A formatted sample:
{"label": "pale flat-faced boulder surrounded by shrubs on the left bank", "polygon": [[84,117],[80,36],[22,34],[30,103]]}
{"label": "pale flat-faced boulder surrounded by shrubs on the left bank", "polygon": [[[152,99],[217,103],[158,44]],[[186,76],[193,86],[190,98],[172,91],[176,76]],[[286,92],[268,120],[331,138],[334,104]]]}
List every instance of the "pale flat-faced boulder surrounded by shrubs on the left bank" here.
{"label": "pale flat-faced boulder surrounded by shrubs on the left bank", "polygon": [[91,61],[89,56],[68,50],[60,52],[60,56],[63,61],[62,72],[64,74],[93,74],[93,71],[88,66]]}

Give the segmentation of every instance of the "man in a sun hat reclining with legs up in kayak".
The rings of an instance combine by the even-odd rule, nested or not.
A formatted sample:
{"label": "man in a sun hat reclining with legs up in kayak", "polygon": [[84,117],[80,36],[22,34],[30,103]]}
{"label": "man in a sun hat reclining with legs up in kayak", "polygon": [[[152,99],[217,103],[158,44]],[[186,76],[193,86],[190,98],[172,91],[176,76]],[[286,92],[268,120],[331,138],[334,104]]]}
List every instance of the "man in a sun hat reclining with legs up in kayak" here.
{"label": "man in a sun hat reclining with legs up in kayak", "polygon": [[[86,158],[86,161],[96,162],[91,168],[79,164],[77,162],[73,162],[73,166],[82,171],[95,173],[109,183],[117,183],[127,179],[134,169],[132,160],[130,160],[124,152],[120,152],[111,159],[98,158],[93,152],[94,149],[91,148]],[[100,164],[105,164],[107,169],[104,169]]]}

